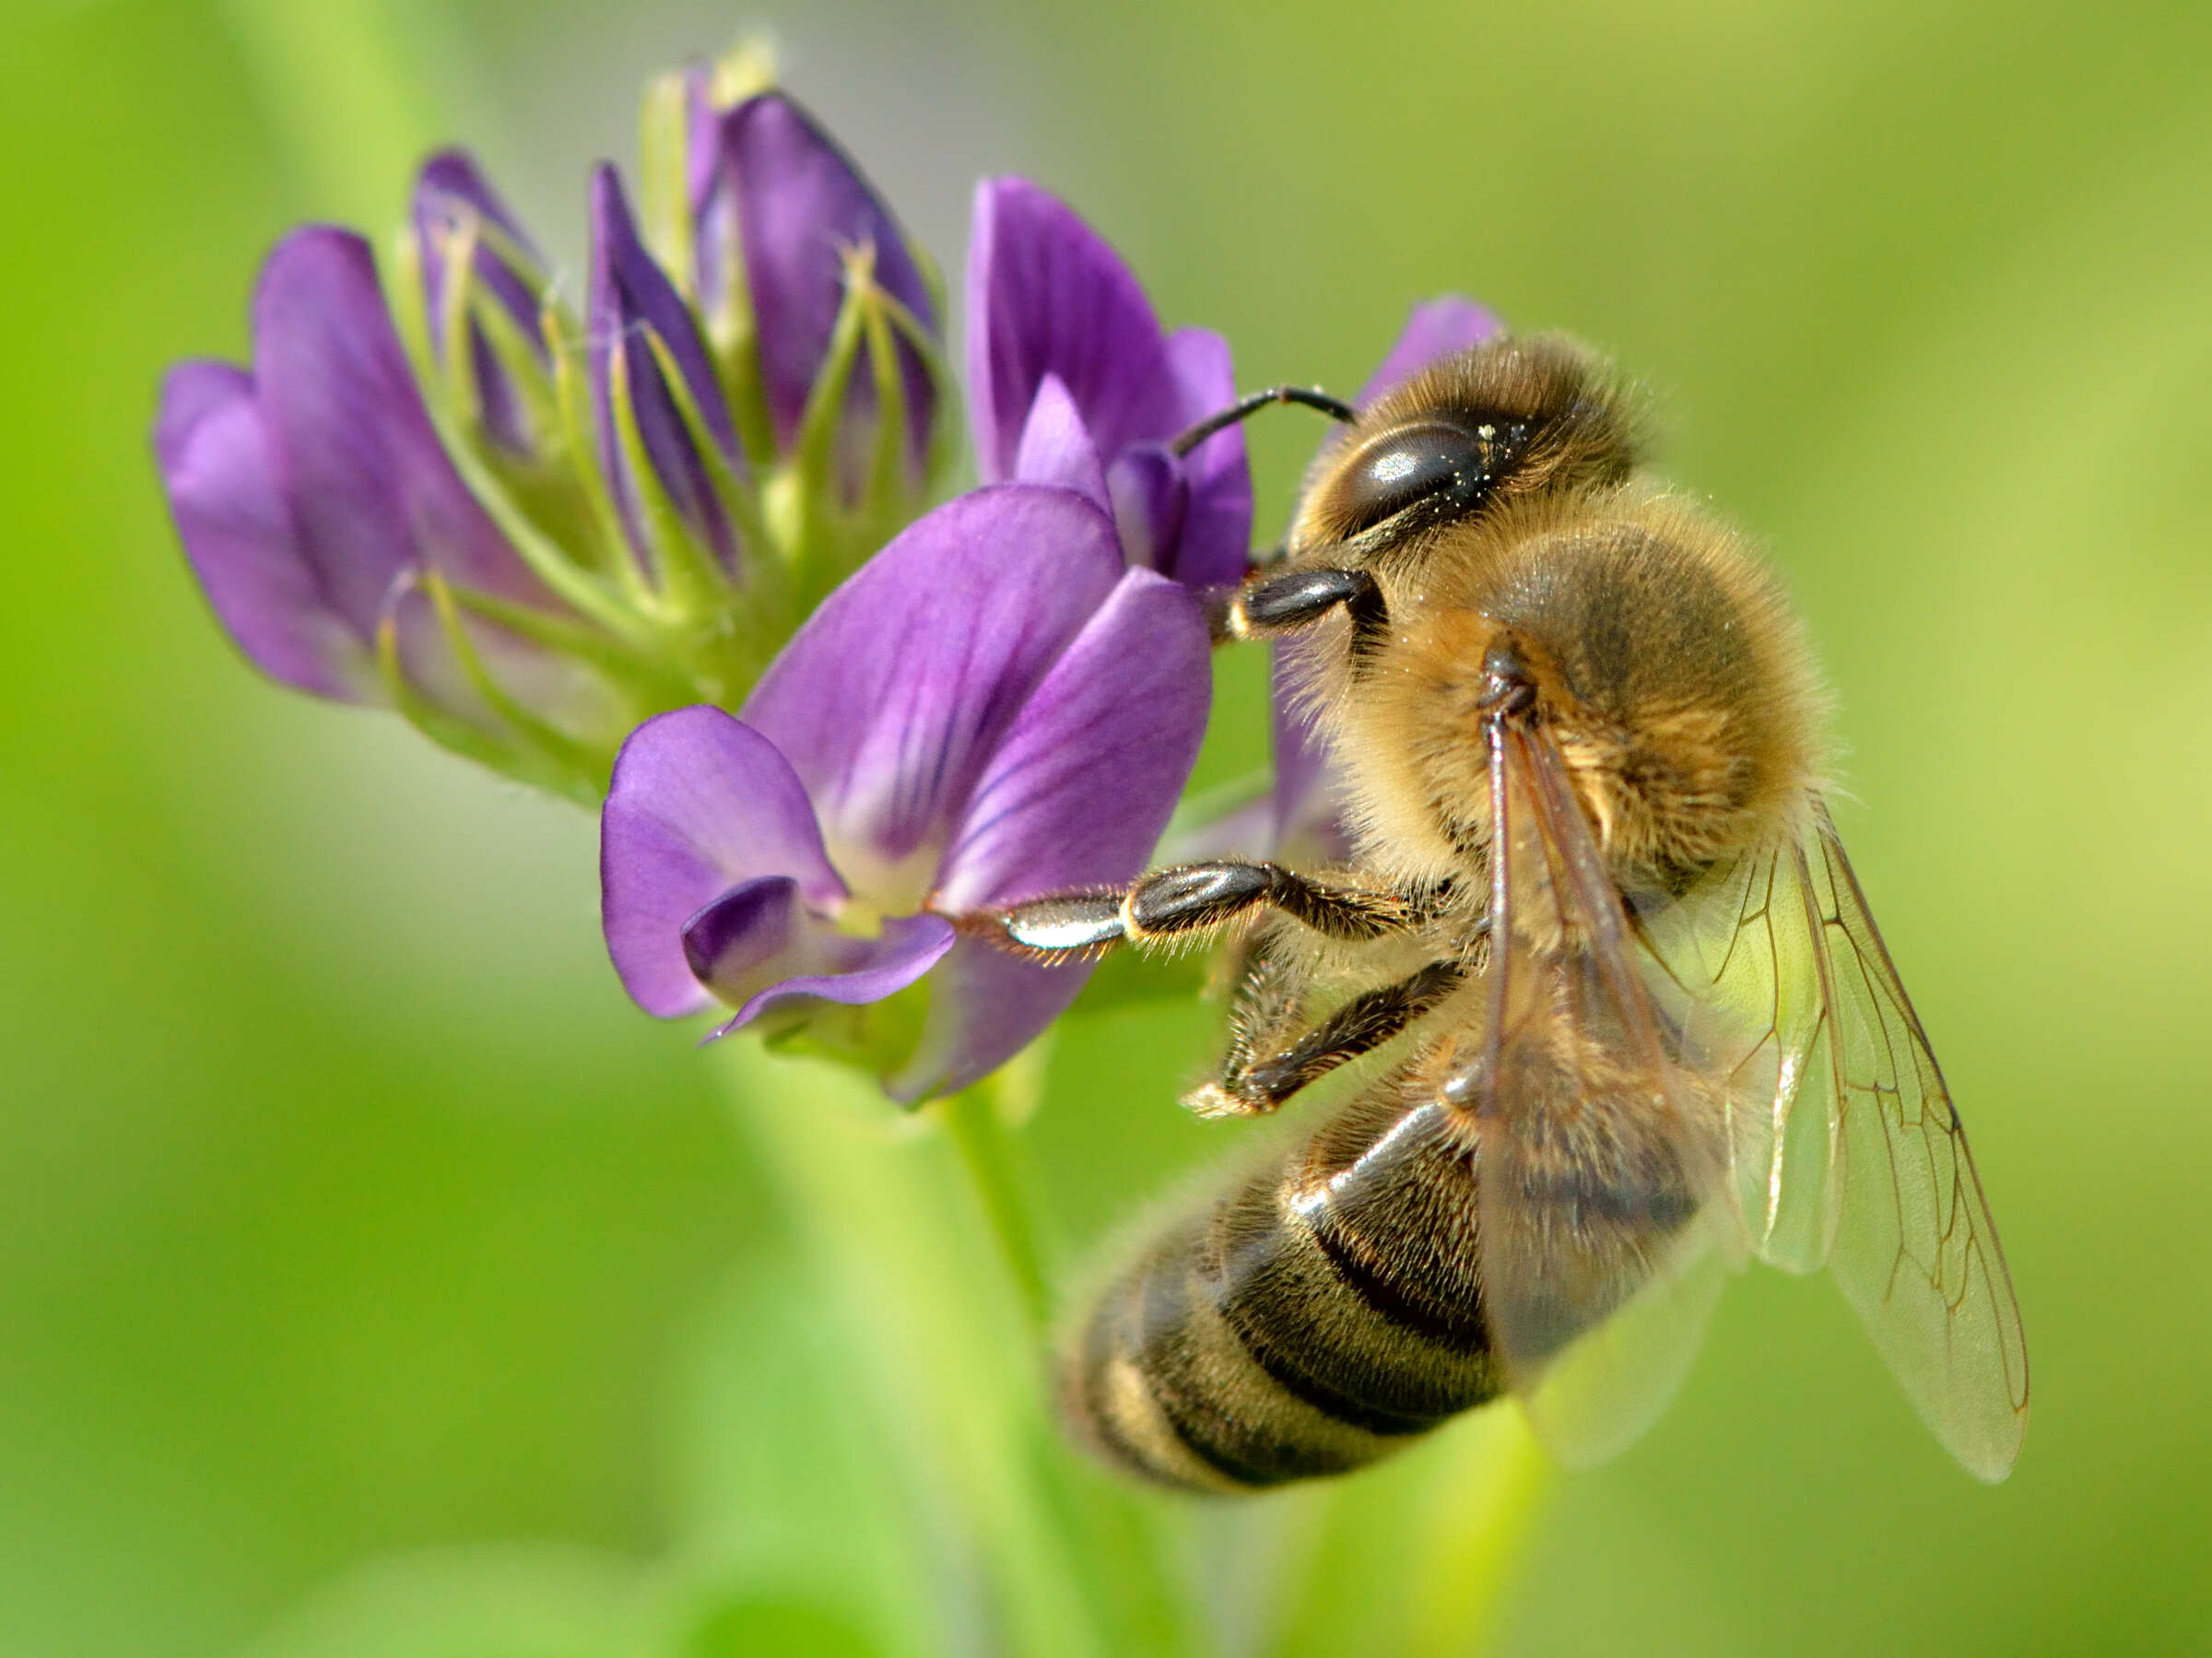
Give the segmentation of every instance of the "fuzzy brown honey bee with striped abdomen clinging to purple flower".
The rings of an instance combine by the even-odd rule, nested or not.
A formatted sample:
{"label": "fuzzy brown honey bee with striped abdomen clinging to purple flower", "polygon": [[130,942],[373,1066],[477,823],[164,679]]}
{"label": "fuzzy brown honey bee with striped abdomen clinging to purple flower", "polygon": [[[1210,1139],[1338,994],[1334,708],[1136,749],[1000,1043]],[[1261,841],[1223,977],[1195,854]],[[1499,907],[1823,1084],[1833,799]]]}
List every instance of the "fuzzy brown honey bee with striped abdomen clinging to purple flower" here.
{"label": "fuzzy brown honey bee with striped abdomen clinging to purple flower", "polygon": [[1352,856],[987,917],[1011,948],[1234,942],[1186,1103],[1367,1081],[1159,1227],[1062,1353],[1073,1428],[1168,1486],[1365,1466],[1517,1395],[1568,1463],[1641,1433],[1741,1258],[1829,1267],[1936,1437],[2020,1450],[2028,1364],[1966,1136],[1823,802],[1825,699],[1745,542],[1644,471],[1635,398],[1493,338],[1347,422],[1274,639]]}

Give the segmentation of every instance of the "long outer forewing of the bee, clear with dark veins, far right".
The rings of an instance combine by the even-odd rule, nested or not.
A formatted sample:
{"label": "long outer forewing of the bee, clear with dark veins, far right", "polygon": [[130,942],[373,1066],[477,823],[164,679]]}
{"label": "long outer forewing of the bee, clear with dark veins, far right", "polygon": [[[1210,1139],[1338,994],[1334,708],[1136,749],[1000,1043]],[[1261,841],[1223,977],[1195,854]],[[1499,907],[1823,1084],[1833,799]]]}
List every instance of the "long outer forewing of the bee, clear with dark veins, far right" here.
{"label": "long outer forewing of the bee, clear with dark veins, far right", "polygon": [[1969,1472],[2004,1479],[2028,1421],[2028,1349],[1966,1130],[1825,805],[1783,873],[1825,1008],[1843,1187],[1829,1269],[1929,1430]]}

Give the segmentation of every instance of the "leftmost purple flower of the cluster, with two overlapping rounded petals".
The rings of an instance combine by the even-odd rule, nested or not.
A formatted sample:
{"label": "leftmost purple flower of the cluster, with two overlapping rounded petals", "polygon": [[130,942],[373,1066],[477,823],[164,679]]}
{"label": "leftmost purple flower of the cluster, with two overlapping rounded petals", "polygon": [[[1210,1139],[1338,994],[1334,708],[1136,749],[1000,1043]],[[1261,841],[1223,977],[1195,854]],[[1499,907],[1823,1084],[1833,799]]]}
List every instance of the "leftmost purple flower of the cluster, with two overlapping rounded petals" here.
{"label": "leftmost purple flower of the cluster, with two overlapping rounded petals", "polygon": [[[562,606],[447,460],[369,245],[332,228],[285,237],[261,270],[252,332],[252,371],[179,363],[155,420],[170,511],[217,619],[285,685],[482,714],[451,652],[411,652],[414,679],[378,663],[409,597],[449,584],[522,612]],[[529,650],[513,634],[504,646]]]}

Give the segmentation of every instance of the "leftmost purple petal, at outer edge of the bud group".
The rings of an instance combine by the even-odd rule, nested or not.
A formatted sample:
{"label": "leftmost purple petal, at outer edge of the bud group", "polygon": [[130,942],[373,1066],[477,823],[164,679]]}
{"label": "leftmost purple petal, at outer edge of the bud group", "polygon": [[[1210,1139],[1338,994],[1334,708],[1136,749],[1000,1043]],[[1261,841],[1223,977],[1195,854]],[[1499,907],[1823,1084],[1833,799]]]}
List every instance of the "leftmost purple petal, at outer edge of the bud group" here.
{"label": "leftmost purple petal, at outer edge of the bud group", "polygon": [[161,382],[153,447],[192,575],[239,650],[285,685],[383,701],[367,641],[299,544],[252,376],[179,363]]}

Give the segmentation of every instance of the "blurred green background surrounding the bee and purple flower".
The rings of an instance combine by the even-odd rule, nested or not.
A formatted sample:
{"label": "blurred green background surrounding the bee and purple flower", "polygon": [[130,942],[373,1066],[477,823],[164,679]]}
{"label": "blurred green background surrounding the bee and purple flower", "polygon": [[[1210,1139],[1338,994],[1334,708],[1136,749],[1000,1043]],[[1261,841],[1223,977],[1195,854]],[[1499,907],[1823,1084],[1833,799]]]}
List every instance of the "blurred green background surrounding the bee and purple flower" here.
{"label": "blurred green background surrounding the bee and purple flower", "polygon": [[[1659,1428],[1551,1486],[1500,1647],[2212,1645],[2212,9],[15,0],[0,1651],[385,1651],[312,1629],[414,1556],[385,1598],[467,1561],[469,1654],[566,1654],[630,1563],[810,1547],[825,1475],[759,1468],[787,1225],[604,964],[593,825],[261,685],[146,453],[288,223],[380,234],[456,137],[573,272],[644,73],[763,24],[949,270],[973,175],[1031,172],[1250,385],[1349,389],[1440,290],[1608,345],[1809,617],[2026,1452],[1978,1488],[1825,1284],[1752,1276]],[[1263,531],[1312,440],[1254,429]],[[1259,754],[1250,665],[1225,714],[1212,776]],[[1170,1103],[1208,1039],[1057,1041],[1077,1238],[1223,1141]],[[836,1651],[810,1616],[695,1649]]]}

